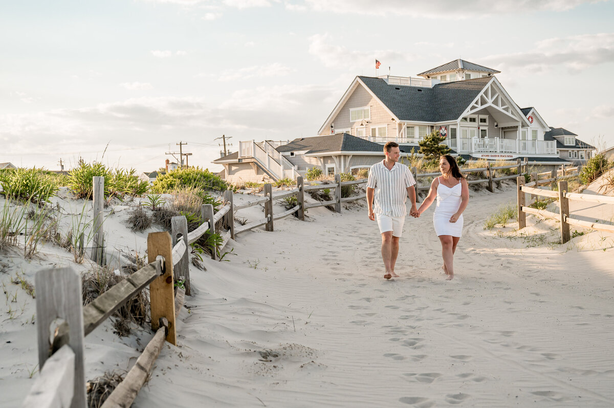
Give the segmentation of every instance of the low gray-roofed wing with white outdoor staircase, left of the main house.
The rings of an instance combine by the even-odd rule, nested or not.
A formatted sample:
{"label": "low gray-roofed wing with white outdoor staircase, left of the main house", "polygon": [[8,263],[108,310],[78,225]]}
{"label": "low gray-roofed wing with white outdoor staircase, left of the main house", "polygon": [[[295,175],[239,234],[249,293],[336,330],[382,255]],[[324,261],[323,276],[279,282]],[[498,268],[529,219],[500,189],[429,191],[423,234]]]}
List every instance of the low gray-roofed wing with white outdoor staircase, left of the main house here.
{"label": "low gray-roofed wing with white outdoor staircase, left of the main house", "polygon": [[[239,145],[243,156],[235,152],[213,161],[224,166],[223,178],[230,183],[294,179],[305,175],[311,167],[320,167],[324,174],[332,175],[371,167],[384,159],[383,145],[348,133],[300,137],[291,142],[240,142]],[[273,167],[281,169],[280,163],[285,164],[286,174],[274,173]]]}

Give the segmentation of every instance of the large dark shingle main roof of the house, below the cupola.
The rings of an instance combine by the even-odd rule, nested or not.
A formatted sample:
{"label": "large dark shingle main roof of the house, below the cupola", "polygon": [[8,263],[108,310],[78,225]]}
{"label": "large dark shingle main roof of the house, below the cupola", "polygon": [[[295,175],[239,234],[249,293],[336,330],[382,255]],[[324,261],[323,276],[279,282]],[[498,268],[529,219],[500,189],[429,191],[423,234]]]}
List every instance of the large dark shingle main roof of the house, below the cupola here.
{"label": "large dark shingle main roof of the house, below the cupola", "polygon": [[359,79],[399,120],[426,122],[456,120],[491,80],[484,77],[422,88],[388,85],[381,78]]}

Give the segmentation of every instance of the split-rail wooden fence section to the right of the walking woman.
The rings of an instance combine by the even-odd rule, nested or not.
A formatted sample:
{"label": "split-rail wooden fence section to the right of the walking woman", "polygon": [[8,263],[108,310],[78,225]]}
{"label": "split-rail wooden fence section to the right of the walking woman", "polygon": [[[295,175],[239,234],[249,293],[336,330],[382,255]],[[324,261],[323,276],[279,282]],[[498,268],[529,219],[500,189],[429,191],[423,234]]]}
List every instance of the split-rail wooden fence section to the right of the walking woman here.
{"label": "split-rail wooden fence section to the right of the walking woman", "polygon": [[[580,166],[578,166],[580,167]],[[578,171],[578,167],[576,170]],[[562,172],[565,176],[565,172]],[[576,175],[579,174],[579,171]],[[561,177],[559,177],[561,178]],[[537,185],[538,181],[530,183],[530,185]],[[589,229],[594,229],[596,231],[605,231],[608,233],[614,233],[614,225],[608,225],[605,223],[599,222],[590,222],[578,220],[576,218],[570,217],[569,211],[569,201],[588,201],[588,202],[598,202],[600,204],[614,204],[614,197],[610,196],[602,196],[602,195],[593,195],[593,194],[580,194],[580,193],[569,193],[567,192],[567,181],[561,180],[558,183],[558,191],[546,190],[545,188],[535,188],[535,187],[527,187],[528,183],[524,183],[524,177],[518,177],[518,229],[522,229],[526,227],[526,214],[538,215],[544,218],[551,218],[553,220],[558,220],[561,222],[561,243],[565,244],[565,242],[571,239],[569,226],[581,226]],[[533,196],[542,196],[549,198],[556,198],[559,201],[559,213],[554,213],[547,210],[538,210],[532,207],[525,206],[526,198],[525,194],[532,194]]]}

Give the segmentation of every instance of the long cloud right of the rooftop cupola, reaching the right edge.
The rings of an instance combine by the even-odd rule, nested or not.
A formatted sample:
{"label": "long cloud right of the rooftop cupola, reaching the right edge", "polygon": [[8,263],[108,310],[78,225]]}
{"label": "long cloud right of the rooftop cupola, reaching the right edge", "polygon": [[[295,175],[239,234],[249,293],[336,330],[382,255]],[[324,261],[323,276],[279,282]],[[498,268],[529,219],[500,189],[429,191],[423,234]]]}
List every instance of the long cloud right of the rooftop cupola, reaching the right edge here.
{"label": "long cloud right of the rooftop cupola, reaching the right edge", "polygon": [[550,72],[556,67],[566,67],[571,74],[605,63],[614,62],[614,33],[583,34],[580,36],[554,37],[535,43],[527,52],[490,55],[481,63],[499,71],[525,71],[531,74]]}

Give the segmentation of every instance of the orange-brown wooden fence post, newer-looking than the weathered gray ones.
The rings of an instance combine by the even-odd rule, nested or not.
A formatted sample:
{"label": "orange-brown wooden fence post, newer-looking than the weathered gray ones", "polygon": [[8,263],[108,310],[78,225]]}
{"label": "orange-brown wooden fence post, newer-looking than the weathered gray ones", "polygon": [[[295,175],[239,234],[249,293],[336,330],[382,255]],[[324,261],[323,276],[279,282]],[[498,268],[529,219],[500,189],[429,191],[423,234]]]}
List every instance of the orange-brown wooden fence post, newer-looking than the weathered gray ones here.
{"label": "orange-brown wooden fence post, newer-looking than the weathered gray ones", "polygon": [[160,318],[168,320],[166,341],[177,345],[175,329],[175,290],[173,280],[173,241],[166,232],[147,235],[147,262],[155,262],[158,255],[164,256],[164,275],[149,284],[149,304],[151,308],[152,329],[160,328]]}

